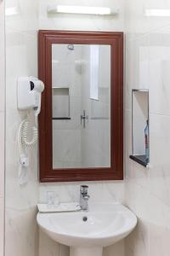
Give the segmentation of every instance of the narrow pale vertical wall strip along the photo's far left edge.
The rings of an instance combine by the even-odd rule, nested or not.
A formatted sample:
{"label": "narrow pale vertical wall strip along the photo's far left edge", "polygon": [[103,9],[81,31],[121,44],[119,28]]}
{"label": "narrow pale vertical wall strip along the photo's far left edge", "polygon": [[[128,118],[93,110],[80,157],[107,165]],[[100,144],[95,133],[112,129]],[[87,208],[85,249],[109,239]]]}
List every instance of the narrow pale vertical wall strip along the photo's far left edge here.
{"label": "narrow pale vertical wall strip along the photo's far left edge", "polygon": [[4,52],[4,2],[0,3],[0,256],[3,256],[4,243],[4,90],[5,90],[5,52]]}

